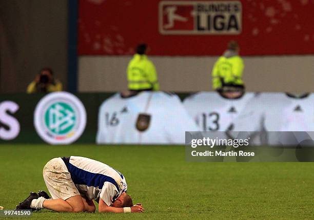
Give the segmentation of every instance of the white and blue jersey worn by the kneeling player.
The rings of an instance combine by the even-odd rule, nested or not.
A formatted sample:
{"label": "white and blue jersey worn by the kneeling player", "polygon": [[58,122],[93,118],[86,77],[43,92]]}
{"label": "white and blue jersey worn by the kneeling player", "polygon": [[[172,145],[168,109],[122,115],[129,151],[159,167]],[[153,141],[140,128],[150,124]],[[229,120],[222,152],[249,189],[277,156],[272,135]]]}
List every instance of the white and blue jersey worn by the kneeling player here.
{"label": "white and blue jersey worn by the kneeling player", "polygon": [[125,177],[104,163],[81,156],[63,160],[76,188],[88,199],[99,201],[101,198],[107,206],[111,206],[117,197],[127,191]]}

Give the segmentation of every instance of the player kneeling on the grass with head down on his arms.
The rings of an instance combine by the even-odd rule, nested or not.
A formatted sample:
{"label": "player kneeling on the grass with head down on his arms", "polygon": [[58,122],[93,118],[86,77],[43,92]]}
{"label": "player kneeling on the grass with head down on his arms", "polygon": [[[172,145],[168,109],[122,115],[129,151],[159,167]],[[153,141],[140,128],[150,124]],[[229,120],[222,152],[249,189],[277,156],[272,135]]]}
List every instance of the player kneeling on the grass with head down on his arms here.
{"label": "player kneeling on the grass with head down on his arms", "polygon": [[43,170],[44,181],[52,196],[44,191],[31,192],[16,209],[50,209],[57,212],[143,212],[142,204],[133,206],[126,193],[125,177],[112,167],[86,157],[51,159]]}

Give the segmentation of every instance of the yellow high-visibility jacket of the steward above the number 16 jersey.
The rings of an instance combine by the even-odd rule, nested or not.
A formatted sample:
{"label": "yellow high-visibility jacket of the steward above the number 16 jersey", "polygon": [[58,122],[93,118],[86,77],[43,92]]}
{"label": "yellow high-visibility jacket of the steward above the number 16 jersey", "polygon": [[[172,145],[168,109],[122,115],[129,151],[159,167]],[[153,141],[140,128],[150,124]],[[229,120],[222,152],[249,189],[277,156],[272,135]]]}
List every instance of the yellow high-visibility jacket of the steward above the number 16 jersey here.
{"label": "yellow high-visibility jacket of the steward above the number 16 jersey", "polygon": [[135,54],[127,68],[130,90],[159,90],[156,69],[146,55]]}

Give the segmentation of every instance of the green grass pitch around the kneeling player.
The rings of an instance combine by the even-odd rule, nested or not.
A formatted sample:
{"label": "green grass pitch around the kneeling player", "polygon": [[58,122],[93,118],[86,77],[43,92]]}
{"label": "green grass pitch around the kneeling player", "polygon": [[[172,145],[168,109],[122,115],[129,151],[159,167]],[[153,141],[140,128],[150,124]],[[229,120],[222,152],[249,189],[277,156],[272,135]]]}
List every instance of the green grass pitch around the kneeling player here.
{"label": "green grass pitch around the kneeling player", "polygon": [[145,213],[56,213],[35,219],[314,219],[314,163],[187,163],[182,146],[0,145],[0,206],[47,190],[44,165],[86,156],[121,171]]}

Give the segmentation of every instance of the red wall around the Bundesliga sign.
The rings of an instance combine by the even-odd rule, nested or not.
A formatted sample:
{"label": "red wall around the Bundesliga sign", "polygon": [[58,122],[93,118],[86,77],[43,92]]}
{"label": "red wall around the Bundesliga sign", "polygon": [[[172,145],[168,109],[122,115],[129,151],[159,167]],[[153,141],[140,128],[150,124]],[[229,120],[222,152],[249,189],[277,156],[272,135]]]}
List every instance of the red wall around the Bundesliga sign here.
{"label": "red wall around the Bundesliga sign", "polygon": [[[175,35],[160,33],[160,2],[167,4],[160,0],[80,0],[78,53],[132,54],[138,43],[145,42],[151,55],[220,55],[227,42],[235,39],[242,55],[314,54],[313,0],[242,0],[239,34],[181,31],[183,34]],[[177,5],[176,13],[188,21],[175,22],[172,29],[191,30],[193,23],[195,29],[189,15],[200,1],[180,2],[187,2],[186,8]]]}

